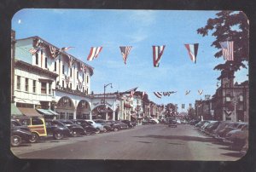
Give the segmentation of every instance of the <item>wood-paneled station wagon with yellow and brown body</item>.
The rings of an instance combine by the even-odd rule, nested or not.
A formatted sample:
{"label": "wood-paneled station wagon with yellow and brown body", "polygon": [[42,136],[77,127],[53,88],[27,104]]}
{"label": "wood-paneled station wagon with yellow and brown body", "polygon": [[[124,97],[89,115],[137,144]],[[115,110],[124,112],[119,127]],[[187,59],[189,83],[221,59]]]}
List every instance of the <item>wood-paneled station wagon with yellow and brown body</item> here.
{"label": "wood-paneled station wagon with yellow and brown body", "polygon": [[41,117],[19,117],[15,118],[18,120],[22,125],[26,125],[32,132],[32,137],[29,140],[30,142],[34,143],[37,142],[40,137],[46,137],[47,131],[44,122],[44,118]]}

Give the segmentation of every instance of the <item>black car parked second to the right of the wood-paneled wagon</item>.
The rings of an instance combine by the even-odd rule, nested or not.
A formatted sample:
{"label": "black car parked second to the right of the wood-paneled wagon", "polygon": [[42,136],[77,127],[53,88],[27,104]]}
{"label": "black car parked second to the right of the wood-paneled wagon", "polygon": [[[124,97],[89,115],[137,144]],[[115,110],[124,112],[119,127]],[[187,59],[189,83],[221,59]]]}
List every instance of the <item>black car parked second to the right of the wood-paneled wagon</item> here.
{"label": "black car parked second to the right of the wood-paneled wagon", "polygon": [[67,126],[72,136],[86,135],[86,131],[84,130],[84,128],[76,123],[73,123],[71,120],[60,119],[59,121]]}

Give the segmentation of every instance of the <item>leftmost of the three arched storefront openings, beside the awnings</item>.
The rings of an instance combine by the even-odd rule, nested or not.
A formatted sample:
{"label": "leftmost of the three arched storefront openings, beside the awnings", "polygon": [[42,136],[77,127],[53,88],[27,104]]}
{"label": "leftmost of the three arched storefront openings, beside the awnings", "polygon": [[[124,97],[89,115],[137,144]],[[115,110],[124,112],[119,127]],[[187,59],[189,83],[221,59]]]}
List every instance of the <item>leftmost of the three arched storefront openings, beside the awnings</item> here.
{"label": "leftmost of the three arched storefront openings, beside the awnings", "polygon": [[56,112],[60,114],[61,119],[73,119],[75,106],[73,100],[64,96],[58,101],[56,106]]}

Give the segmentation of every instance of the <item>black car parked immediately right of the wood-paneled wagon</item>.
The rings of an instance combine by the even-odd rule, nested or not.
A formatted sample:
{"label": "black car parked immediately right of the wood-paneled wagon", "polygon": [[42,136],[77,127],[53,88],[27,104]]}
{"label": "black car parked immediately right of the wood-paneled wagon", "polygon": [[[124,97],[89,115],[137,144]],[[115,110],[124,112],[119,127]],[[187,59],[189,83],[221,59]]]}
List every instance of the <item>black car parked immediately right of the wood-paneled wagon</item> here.
{"label": "black car parked immediately right of the wood-paneled wagon", "polygon": [[61,123],[60,121],[45,119],[45,126],[47,135],[52,135],[55,140],[60,140],[63,137],[70,136],[70,130],[64,123]]}

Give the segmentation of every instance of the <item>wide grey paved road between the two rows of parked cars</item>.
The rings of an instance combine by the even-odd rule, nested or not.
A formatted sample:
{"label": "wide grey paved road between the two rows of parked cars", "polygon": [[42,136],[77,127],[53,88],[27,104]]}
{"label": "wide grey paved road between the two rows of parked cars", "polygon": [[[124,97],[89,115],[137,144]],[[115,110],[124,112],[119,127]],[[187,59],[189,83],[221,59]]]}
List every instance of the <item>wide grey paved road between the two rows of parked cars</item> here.
{"label": "wide grey paved road between the two rows of parked cars", "polygon": [[137,126],[100,135],[13,147],[18,158],[235,161],[241,154],[191,125]]}

